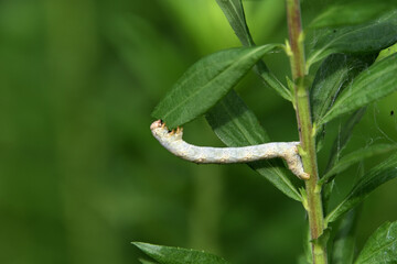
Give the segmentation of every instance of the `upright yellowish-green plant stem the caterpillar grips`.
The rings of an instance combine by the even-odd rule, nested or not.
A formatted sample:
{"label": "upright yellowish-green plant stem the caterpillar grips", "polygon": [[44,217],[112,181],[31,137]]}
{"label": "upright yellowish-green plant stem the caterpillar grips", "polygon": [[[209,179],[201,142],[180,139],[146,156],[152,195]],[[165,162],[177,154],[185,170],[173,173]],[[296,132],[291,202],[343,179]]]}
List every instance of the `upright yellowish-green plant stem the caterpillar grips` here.
{"label": "upright yellowish-green plant stem the caterpillar grips", "polygon": [[310,237],[312,240],[313,264],[326,264],[326,248],[318,239],[324,231],[324,216],[321,199],[321,188],[318,187],[318,164],[315,153],[315,138],[310,113],[309,86],[305,81],[305,59],[301,12],[299,0],[286,0],[289,44],[291,48],[290,64],[293,79],[294,108],[297,113],[299,138],[301,142],[301,157],[304,170],[310,174],[305,182],[307,206],[309,215]]}

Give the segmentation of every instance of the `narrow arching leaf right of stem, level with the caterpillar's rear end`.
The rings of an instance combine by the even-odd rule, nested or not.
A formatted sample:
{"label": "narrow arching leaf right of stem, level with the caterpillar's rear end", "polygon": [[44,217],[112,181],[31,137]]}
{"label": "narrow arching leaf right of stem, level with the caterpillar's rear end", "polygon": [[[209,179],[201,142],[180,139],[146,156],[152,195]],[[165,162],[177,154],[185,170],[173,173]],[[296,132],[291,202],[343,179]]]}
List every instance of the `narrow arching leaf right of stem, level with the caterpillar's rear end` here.
{"label": "narrow arching leaf right of stem, level with the caterpillar's rear end", "polygon": [[342,173],[353,164],[356,164],[365,158],[373,157],[379,154],[384,154],[397,148],[397,144],[375,144],[367,147],[363,147],[358,151],[354,151],[343,156],[320,180],[319,185],[322,185],[330,180],[334,175]]}

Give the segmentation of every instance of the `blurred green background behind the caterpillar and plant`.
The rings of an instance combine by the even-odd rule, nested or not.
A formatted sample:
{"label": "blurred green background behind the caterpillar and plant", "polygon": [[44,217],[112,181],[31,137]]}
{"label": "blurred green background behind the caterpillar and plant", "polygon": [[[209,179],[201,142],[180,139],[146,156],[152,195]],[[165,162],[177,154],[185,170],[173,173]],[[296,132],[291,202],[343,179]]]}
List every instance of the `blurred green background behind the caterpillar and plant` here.
{"label": "blurred green background behind the caterpillar and plant", "polygon": [[[304,2],[308,21],[325,6]],[[285,42],[283,1],[245,7],[257,43]],[[1,1],[0,263],[138,263],[143,255],[131,241],[206,250],[233,263],[296,262],[301,205],[245,165],[181,161],[149,130],[153,107],[184,69],[233,46],[239,43],[215,0]],[[285,80],[285,55],[265,59]],[[237,90],[275,141],[298,139],[291,106],[254,74]],[[348,148],[397,141],[396,99],[368,109]],[[222,145],[203,119],[185,136]],[[354,167],[336,183],[335,201],[356,177]],[[393,182],[366,201],[358,246],[397,219],[396,190]]]}

